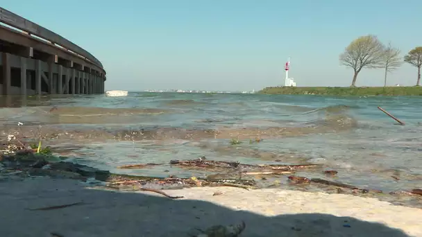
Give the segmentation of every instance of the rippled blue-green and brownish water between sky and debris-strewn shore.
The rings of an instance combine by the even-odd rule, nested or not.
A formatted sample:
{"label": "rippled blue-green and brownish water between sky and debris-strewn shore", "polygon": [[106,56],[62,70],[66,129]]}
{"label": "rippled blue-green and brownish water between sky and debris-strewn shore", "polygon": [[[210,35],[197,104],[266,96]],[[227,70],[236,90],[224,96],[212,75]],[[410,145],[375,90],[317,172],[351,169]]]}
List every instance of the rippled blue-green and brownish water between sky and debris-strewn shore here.
{"label": "rippled blue-green and brownish water between sky and debris-strewn shore", "polygon": [[[22,103],[26,106],[19,107]],[[387,193],[422,188],[419,97],[129,93],[13,99],[7,105],[0,109],[1,139],[13,131],[42,137],[74,161],[115,173],[205,177],[212,173],[116,168],[205,156],[247,164],[324,164],[325,170],[337,170],[337,177],[325,177],[322,170],[296,175]],[[18,122],[24,125],[18,128]],[[250,142],[257,138],[262,141]],[[231,145],[231,139],[242,143]],[[286,177],[268,182],[273,179],[287,186]]]}

